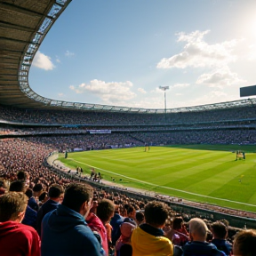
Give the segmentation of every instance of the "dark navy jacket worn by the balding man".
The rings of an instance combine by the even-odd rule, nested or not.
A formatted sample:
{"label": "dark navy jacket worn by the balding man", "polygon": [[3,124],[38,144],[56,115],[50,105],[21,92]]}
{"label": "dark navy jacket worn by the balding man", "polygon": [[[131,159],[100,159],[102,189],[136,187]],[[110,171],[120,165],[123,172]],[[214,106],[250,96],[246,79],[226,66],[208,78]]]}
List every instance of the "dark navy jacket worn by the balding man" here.
{"label": "dark navy jacket worn by the balding man", "polygon": [[226,256],[217,247],[208,242],[188,242],[183,246],[183,256]]}

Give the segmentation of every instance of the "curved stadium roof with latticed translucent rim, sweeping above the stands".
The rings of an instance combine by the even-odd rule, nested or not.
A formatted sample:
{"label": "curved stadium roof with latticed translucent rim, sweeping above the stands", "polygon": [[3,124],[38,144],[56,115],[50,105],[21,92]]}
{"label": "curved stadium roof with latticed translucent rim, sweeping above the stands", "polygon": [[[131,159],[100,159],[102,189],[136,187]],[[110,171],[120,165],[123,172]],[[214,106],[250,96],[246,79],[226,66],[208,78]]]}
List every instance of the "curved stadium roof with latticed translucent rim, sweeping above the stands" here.
{"label": "curved stadium roof with latticed translucent rim, sweeping above the stands", "polygon": [[[164,113],[164,109],[127,108],[44,98],[28,84],[32,60],[44,36],[72,0],[0,0],[0,103],[20,108],[73,108],[130,113]],[[256,99],[236,100],[166,113],[252,106]]]}

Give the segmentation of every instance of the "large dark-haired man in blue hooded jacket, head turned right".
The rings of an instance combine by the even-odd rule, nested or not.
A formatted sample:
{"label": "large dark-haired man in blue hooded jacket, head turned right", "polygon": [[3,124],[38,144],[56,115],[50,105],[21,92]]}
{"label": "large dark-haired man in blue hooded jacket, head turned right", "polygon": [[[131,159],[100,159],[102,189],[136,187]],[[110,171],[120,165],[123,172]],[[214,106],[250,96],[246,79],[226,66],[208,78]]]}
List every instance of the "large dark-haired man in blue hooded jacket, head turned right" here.
{"label": "large dark-haired man in blue hooded jacket, head turned right", "polygon": [[91,188],[68,186],[62,204],[42,221],[42,256],[101,256],[100,243],[84,220],[91,204]]}

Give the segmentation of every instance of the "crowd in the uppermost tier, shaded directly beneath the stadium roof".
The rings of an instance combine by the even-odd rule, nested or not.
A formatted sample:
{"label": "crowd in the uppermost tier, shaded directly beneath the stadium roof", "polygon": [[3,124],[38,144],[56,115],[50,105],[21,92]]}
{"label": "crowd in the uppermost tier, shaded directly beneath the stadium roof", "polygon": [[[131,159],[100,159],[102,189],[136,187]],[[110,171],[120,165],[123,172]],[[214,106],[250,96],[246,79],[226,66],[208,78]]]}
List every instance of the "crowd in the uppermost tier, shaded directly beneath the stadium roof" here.
{"label": "crowd in the uppermost tier, shaded directly beneath the stadium roof", "polygon": [[220,108],[165,114],[117,113],[82,110],[42,110],[5,107],[0,105],[0,120],[22,124],[194,124],[252,119],[254,106]]}

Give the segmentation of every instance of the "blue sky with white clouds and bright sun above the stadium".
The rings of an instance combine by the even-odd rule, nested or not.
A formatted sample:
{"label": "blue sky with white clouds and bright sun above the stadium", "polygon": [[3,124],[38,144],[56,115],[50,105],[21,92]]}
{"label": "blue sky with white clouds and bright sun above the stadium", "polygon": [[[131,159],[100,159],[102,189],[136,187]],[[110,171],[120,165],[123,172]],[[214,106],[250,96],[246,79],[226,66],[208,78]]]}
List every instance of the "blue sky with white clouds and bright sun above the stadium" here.
{"label": "blue sky with white clouds and bright sun above the stadium", "polygon": [[[52,100],[180,108],[256,84],[255,0],[73,0],[30,68]],[[252,97],[251,97],[252,98]]]}

